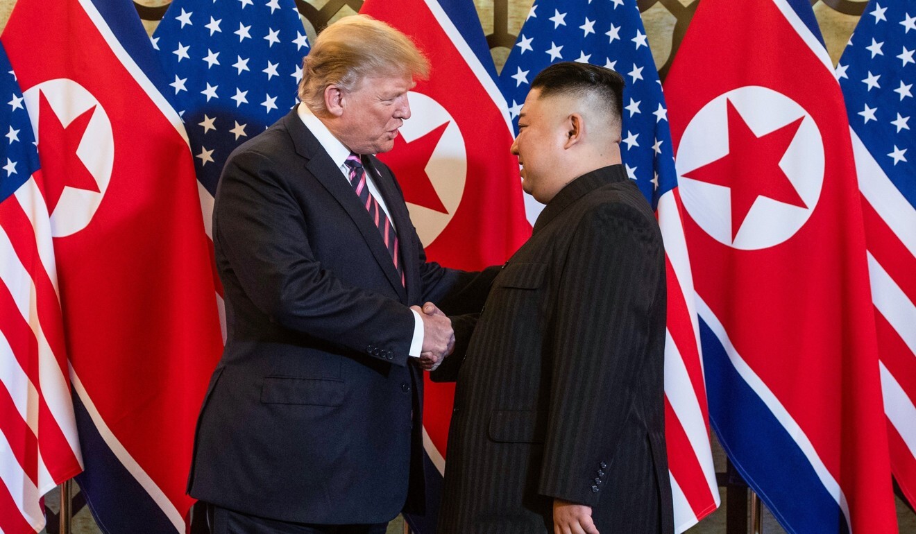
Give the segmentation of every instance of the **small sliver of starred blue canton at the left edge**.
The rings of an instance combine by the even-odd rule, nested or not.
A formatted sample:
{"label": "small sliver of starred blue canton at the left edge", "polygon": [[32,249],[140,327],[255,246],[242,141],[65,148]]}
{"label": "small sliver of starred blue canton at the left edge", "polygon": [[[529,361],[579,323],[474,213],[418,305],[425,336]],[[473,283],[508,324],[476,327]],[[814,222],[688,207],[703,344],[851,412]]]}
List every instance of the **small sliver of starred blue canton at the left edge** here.
{"label": "small sliver of starred blue canton at the left edge", "polygon": [[26,183],[39,168],[35,133],[26,102],[16,82],[6,51],[0,46],[0,202]]}

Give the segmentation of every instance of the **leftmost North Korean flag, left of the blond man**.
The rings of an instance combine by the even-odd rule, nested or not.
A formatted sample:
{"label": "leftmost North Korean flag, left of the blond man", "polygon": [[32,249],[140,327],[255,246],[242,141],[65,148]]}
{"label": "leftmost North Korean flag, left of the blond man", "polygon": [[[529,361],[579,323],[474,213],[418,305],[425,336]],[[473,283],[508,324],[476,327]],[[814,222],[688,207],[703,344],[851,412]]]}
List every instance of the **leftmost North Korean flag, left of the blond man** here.
{"label": "leftmost North Korean flag, left of the blond man", "polygon": [[187,136],[131,2],[19,0],[2,40],[38,141],[77,480],[104,532],[184,531],[222,349]]}

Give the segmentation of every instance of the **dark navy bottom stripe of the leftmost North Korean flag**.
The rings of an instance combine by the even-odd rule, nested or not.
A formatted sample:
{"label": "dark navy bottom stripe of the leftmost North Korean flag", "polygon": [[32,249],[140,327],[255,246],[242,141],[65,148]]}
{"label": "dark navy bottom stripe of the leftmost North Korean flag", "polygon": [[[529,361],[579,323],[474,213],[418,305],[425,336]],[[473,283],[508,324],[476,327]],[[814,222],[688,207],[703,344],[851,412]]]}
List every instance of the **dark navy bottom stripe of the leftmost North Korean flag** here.
{"label": "dark navy bottom stripe of the leftmost North Korean flag", "polygon": [[105,534],[176,532],[162,509],[114,456],[75,392],[73,411],[80,429],[85,466],[85,471],[76,476],[76,482],[99,529]]}

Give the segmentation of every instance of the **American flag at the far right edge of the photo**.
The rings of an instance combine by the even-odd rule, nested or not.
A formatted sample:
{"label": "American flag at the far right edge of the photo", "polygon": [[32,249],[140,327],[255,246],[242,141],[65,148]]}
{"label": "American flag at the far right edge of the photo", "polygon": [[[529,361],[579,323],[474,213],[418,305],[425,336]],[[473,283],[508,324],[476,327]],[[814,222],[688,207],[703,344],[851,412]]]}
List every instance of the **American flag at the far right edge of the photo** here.
{"label": "American flag at the far right edge of the photo", "polygon": [[852,128],[890,463],[916,503],[916,0],[868,3],[836,67]]}

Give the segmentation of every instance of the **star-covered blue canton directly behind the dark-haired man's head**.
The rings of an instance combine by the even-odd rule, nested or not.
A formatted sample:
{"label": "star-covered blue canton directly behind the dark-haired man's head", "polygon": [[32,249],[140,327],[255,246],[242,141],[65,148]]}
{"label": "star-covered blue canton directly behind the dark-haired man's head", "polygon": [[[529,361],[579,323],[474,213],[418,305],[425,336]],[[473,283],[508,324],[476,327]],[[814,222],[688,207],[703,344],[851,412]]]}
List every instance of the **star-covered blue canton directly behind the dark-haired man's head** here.
{"label": "star-covered blue canton directly behind the dark-haired man's head", "polygon": [[518,132],[518,113],[538,72],[579,61],[620,72],[624,88],[621,153],[627,175],[657,207],[677,186],[668,108],[636,0],[537,0],[499,77]]}

